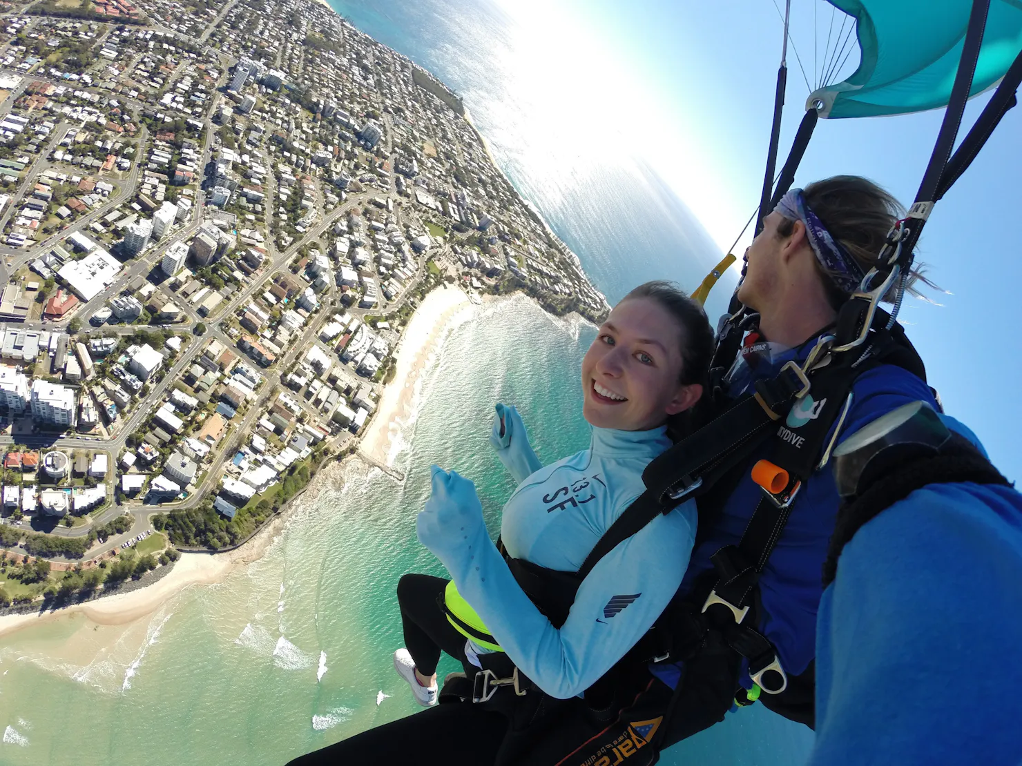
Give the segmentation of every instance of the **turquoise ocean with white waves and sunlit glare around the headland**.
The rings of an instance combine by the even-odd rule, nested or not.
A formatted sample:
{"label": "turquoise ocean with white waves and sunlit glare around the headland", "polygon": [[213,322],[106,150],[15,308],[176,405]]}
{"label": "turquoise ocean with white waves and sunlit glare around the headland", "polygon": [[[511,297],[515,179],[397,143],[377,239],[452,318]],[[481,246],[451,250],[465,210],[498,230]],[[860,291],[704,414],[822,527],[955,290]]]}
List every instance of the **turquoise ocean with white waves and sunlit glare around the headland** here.
{"label": "turquoise ocean with white waves and sunlit glare around the headland", "polygon": [[[513,23],[489,0],[334,7],[464,96],[498,162],[609,299],[651,278],[694,286],[719,257],[648,167],[598,141],[572,151],[538,137],[542,118],[515,84]],[[280,764],[413,714],[390,664],[394,585],[442,573],[415,539],[428,466],[473,478],[496,530],[512,483],[487,443],[494,402],[517,404],[544,461],[586,446],[578,379],[594,335],[520,295],[474,308],[422,378],[394,458],[405,482],[349,462],[226,581],[126,625],[74,615],[0,638],[0,764]],[[810,744],[755,706],[662,762],[798,764]]]}

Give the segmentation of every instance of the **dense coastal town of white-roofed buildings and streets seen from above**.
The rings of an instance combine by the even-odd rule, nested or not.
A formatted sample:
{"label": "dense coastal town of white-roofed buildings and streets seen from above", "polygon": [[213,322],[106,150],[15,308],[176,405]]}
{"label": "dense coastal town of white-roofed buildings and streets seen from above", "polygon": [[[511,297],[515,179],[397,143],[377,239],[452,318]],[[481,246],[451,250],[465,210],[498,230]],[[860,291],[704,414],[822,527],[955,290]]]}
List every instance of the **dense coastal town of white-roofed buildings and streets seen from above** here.
{"label": "dense coastal town of white-roofed buildings and streets seen from above", "polygon": [[607,310],[460,98],[311,0],[0,4],[0,606],[249,538],[433,290]]}

